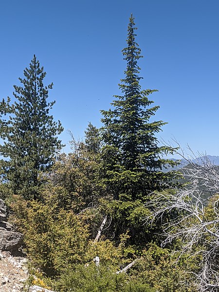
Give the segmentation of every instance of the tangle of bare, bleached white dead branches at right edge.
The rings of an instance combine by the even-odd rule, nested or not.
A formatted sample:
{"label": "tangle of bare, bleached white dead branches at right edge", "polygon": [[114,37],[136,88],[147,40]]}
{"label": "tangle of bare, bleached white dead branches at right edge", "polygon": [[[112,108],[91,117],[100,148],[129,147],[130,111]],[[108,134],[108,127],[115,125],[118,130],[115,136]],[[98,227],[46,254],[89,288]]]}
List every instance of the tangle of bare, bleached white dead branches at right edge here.
{"label": "tangle of bare, bleached white dead branches at right edge", "polygon": [[[181,155],[186,159],[182,152]],[[190,183],[182,189],[154,194],[146,203],[153,211],[145,218],[145,223],[152,224],[167,213],[181,211],[174,221],[164,223],[162,246],[180,238],[181,256],[200,253],[200,272],[193,273],[195,282],[201,292],[216,292],[219,291],[219,168],[207,157],[197,161],[199,164],[191,159],[187,161],[191,167],[184,167],[183,173]]]}

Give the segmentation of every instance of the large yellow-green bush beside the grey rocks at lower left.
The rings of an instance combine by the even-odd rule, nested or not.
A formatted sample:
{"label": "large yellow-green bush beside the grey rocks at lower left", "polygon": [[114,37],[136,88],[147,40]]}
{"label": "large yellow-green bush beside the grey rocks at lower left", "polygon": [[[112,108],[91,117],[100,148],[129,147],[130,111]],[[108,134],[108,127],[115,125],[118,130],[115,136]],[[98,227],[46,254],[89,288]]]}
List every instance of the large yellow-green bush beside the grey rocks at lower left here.
{"label": "large yellow-green bush beside the grey rocks at lower left", "polygon": [[84,261],[89,230],[83,218],[37,201],[16,202],[14,209],[26,252],[37,268],[53,276]]}

